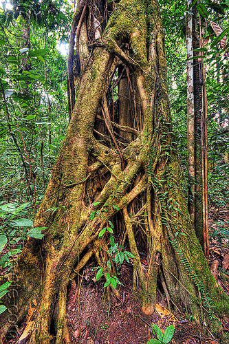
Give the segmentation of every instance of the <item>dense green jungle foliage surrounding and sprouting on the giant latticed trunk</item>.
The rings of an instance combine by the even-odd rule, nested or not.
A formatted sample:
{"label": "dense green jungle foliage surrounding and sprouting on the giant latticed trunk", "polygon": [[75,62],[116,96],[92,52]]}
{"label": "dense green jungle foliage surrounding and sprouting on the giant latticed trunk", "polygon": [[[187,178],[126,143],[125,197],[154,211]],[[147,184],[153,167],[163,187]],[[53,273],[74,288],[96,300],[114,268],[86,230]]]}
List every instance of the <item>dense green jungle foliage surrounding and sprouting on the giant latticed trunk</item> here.
{"label": "dense green jungle foliage surrounding and sprouting on the giant latticed trunk", "polygon": [[[208,95],[209,195],[210,202],[219,209],[228,206],[229,202],[226,182],[229,174],[228,44],[226,47],[219,47],[220,39],[229,32],[229,4],[227,1],[218,4],[210,0],[193,1],[193,6],[195,4],[199,13],[199,23],[200,21],[202,23],[203,38],[208,41],[199,50],[199,56],[204,56]],[[186,176],[185,30],[186,13],[189,9],[184,7],[184,3],[180,4],[177,1],[170,3],[166,0],[161,1],[161,8],[173,128]],[[3,272],[10,270],[14,259],[17,259],[21,253],[27,237],[42,237],[41,231],[46,229],[41,227],[34,228],[35,231],[32,232],[28,231],[28,228],[32,227],[31,219],[34,218],[43,200],[52,166],[67,131],[67,58],[59,52],[58,45],[67,44],[72,13],[73,8],[63,1],[56,3],[12,1],[10,7],[3,6],[0,10],[2,57],[0,63],[0,249],[2,251],[0,265]],[[211,22],[223,28],[219,39],[216,39]],[[114,104],[118,96],[113,92],[111,97]],[[153,173],[151,177],[153,178]],[[72,181],[69,181],[67,186],[72,185]],[[160,187],[158,186],[155,193],[158,190],[160,193]],[[184,189],[188,189],[187,182],[184,183]],[[164,202],[164,199],[160,200],[162,201]],[[50,211],[53,215],[57,209],[52,207],[46,212]],[[174,209],[179,212],[179,208]],[[96,216],[96,210],[94,212]],[[89,220],[94,220],[94,217],[90,215]],[[102,230],[104,232],[98,235],[99,239],[107,233],[107,230],[113,233],[110,227]],[[179,256],[176,240],[173,246]],[[117,244],[117,247],[120,246]],[[124,252],[128,261],[131,255],[127,254],[128,251]],[[118,264],[121,264],[120,261]],[[99,268],[98,275],[101,277],[102,268]],[[118,283],[114,277],[110,280],[112,286]],[[5,287],[8,288],[8,285]],[[6,289],[5,287],[3,290]]]}

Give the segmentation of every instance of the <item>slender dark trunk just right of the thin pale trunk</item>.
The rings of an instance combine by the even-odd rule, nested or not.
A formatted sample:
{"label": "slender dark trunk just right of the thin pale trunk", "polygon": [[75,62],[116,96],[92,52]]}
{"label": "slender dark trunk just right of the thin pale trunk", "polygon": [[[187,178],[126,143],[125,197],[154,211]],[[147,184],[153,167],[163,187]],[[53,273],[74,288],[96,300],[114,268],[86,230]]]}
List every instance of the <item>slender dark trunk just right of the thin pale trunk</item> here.
{"label": "slender dark trunk just right of the thin pale trunk", "polygon": [[[201,20],[197,37],[197,6],[193,7],[193,49],[202,47]],[[194,52],[197,57],[200,52]],[[207,157],[207,103],[204,59],[195,58],[194,76],[194,158],[195,158],[195,232],[206,257],[209,253],[208,239],[208,157]]]}

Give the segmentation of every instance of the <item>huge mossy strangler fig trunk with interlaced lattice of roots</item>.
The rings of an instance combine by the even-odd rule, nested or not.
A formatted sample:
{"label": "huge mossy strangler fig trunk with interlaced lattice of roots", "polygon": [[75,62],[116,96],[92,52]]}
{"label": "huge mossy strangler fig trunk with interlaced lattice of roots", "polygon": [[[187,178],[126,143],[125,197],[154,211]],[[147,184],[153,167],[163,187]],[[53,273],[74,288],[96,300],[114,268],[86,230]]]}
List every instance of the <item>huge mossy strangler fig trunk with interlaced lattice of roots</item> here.
{"label": "huge mossy strangler fig trunk with interlaced lattice of roots", "polygon": [[[30,302],[39,301],[29,343],[50,343],[51,323],[55,324],[55,343],[71,343],[66,316],[69,278],[87,263],[91,248],[98,246],[98,234],[114,215],[124,219],[124,226],[114,228],[114,236],[127,233],[125,245],[134,255],[133,290],[140,292],[145,314],[155,309],[157,279],[164,281],[173,303],[196,319],[202,303],[214,326],[213,312],[223,316],[229,310],[228,297],[208,268],[184,197],[157,1],[121,0],[116,8],[109,8],[113,14],[108,21],[106,4],[88,1],[83,14],[79,3],[78,18],[83,14],[80,28],[87,29],[89,56],[83,69],[80,61],[76,104],[34,222],[34,226],[47,227],[45,237],[28,240],[17,267],[18,322]],[[135,100],[131,98],[135,112],[129,111],[135,118],[126,125],[119,122],[113,106],[116,99],[110,92],[120,65],[131,74],[129,96],[136,95]],[[122,133],[131,133],[131,142]],[[142,269],[140,261],[140,236],[147,243],[143,249],[148,270]],[[104,257],[110,244],[105,238],[99,239]],[[95,256],[108,273],[106,261]],[[1,324],[3,338],[10,328],[7,312]]]}

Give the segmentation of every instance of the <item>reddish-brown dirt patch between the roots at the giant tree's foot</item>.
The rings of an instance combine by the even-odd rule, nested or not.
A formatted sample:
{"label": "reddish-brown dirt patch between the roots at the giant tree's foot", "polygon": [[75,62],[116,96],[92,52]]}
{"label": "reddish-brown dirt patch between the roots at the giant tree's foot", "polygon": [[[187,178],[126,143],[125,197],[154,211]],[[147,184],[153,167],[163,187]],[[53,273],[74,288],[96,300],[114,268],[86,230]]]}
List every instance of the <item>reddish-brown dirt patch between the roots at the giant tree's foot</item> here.
{"label": "reddish-brown dirt patch between the roots at the giant tree's foot", "polygon": [[72,283],[67,303],[67,317],[73,344],[146,344],[155,338],[151,324],[162,330],[174,325],[175,334],[171,343],[216,344],[210,332],[204,333],[196,323],[188,321],[185,314],[169,312],[163,295],[157,294],[157,307],[152,316],[145,316],[140,301],[131,287],[131,266],[123,266],[120,281],[120,300],[111,297],[108,301],[102,294],[104,281],[94,282],[95,272],[87,266],[79,277],[79,286]]}

